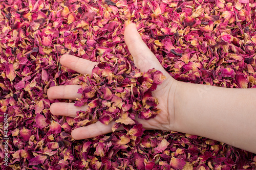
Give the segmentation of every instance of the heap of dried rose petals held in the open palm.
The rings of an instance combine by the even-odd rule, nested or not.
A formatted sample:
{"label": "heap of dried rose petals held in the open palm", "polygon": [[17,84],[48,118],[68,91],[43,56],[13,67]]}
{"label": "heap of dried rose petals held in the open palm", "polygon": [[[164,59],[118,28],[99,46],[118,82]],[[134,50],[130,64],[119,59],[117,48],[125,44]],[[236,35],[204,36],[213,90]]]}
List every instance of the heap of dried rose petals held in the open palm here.
{"label": "heap of dried rose petals held in the open palm", "polygon": [[166,78],[162,72],[155,69],[139,72],[126,58],[113,54],[101,56],[100,61],[90,78],[88,75],[79,77],[83,83],[78,93],[82,96],[75,106],[87,104],[87,112],[80,111],[78,114],[92,115],[90,120],[88,116],[84,119],[84,114],[76,117],[75,122],[80,119],[79,126],[95,120],[108,125],[114,120],[117,123],[113,127],[115,130],[120,124],[134,125],[136,115],[141,119],[150,119],[160,112],[156,108],[158,99],[152,96],[152,91]]}

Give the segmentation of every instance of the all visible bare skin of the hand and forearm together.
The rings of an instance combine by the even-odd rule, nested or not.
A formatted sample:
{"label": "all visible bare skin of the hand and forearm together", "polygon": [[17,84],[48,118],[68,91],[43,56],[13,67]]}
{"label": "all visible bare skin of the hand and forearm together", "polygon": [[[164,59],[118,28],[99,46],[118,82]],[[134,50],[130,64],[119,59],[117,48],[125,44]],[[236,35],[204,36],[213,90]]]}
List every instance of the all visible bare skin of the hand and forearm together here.
{"label": "all visible bare skin of the hand and forearm together", "polygon": [[[160,114],[150,120],[138,119],[146,130],[177,131],[218,140],[234,147],[256,153],[256,89],[231,89],[179,82],[164,70],[155,55],[141,39],[136,25],[125,28],[125,43],[141,71],[155,68],[166,76],[153,95],[158,98]],[[81,74],[91,74],[98,63],[71,55],[63,55],[60,63]],[[79,85],[50,87],[50,99],[80,98]],[[87,106],[74,103],[53,103],[54,115],[76,117],[76,112]],[[100,122],[74,129],[74,139],[86,139],[112,132],[114,122]]]}

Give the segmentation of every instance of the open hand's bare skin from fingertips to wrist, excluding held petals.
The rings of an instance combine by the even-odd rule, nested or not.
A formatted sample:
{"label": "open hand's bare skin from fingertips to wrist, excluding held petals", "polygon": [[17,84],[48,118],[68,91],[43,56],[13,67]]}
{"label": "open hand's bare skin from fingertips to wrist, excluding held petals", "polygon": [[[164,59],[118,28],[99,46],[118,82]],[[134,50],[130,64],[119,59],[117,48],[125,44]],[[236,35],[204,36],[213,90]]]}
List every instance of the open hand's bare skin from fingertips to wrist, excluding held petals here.
{"label": "open hand's bare skin from fingertips to wrist, excluding held petals", "polygon": [[[135,65],[141,71],[155,68],[160,70],[166,77],[164,82],[158,85],[157,89],[153,91],[153,96],[158,98],[159,101],[157,108],[161,109],[161,112],[155,118],[149,120],[137,118],[138,123],[142,124],[143,128],[146,130],[173,130],[175,120],[174,93],[178,81],[173,79],[168,72],[164,70],[156,56],[141,39],[134,23],[131,23],[125,28],[124,39],[134,58]],[[60,63],[80,74],[91,74],[93,67],[97,65],[96,62],[71,55],[63,55],[60,58]],[[50,87],[47,94],[50,99],[75,100],[76,98],[80,98],[80,94],[77,93],[79,88],[79,85],[55,86]],[[86,110],[87,107],[88,106],[76,107],[74,103],[53,103],[50,107],[50,111],[54,115],[76,117],[77,111]],[[109,125],[96,122],[95,124],[73,130],[72,137],[74,139],[85,139],[107,134],[112,132],[111,128],[114,124],[115,122],[111,122]]]}

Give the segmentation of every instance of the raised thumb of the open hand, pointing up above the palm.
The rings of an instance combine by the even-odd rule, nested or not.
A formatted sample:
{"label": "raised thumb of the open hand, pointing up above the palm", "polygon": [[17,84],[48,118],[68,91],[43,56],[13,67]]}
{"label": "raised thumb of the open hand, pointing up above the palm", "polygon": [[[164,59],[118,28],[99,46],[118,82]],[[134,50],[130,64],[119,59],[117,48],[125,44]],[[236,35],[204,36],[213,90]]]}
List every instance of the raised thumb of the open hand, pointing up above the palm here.
{"label": "raised thumb of the open hand, pointing up above the palm", "polygon": [[148,69],[155,68],[161,71],[164,76],[169,76],[156,56],[143,42],[134,23],[130,23],[128,26],[126,26],[124,30],[124,39],[131,55],[133,56],[135,65],[141,71],[147,71]]}

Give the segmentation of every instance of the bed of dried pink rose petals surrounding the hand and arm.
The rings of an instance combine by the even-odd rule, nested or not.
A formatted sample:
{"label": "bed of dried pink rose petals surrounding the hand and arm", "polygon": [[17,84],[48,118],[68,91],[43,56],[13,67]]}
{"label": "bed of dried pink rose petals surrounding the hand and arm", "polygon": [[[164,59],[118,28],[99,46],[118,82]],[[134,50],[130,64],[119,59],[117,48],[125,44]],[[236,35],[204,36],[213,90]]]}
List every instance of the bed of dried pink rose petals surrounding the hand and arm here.
{"label": "bed of dried pink rose petals surrounding the hand and arm", "polygon": [[[255,169],[255,154],[178,132],[124,130],[76,141],[76,119],[52,115],[47,98],[51,86],[84,80],[59,64],[63,54],[132,62],[123,38],[130,22],[175,79],[255,88],[255,7],[254,0],[0,1],[1,168]],[[71,102],[55,100],[63,101]]]}

